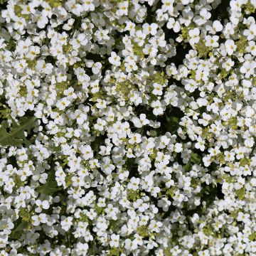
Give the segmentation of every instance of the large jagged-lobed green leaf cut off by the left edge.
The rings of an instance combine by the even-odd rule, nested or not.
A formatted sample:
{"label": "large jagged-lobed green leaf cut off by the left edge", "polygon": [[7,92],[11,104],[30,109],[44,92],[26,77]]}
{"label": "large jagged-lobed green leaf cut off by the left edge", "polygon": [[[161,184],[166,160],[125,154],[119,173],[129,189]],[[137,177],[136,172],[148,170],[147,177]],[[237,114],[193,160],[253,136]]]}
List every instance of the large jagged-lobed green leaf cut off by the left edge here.
{"label": "large jagged-lobed green leaf cut off by the left edge", "polygon": [[7,132],[7,123],[2,122],[0,127],[0,145],[1,146],[18,146],[22,143],[30,144],[24,134],[25,131],[30,132],[36,117],[21,117],[20,124],[11,119],[10,132]]}

